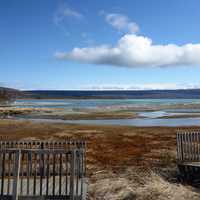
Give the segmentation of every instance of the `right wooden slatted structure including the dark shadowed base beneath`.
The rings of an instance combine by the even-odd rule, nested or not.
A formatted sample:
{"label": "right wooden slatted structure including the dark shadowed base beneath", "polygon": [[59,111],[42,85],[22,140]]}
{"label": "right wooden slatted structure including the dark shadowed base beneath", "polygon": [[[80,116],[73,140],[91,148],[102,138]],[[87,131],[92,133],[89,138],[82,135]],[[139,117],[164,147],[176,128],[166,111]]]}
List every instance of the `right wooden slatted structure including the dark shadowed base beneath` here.
{"label": "right wooden slatted structure including the dark shadowed base beneath", "polygon": [[200,183],[200,132],[177,132],[177,164],[182,180]]}

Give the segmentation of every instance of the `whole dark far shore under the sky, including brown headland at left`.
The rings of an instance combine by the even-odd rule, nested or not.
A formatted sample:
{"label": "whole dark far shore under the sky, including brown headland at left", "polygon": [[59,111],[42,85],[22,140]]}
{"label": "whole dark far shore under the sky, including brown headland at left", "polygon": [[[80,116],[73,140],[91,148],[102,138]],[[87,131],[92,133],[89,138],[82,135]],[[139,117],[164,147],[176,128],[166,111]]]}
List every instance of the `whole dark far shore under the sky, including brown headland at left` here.
{"label": "whole dark far shore under the sky, including brown headland at left", "polygon": [[200,89],[182,90],[31,90],[0,87],[0,102],[14,99],[198,99]]}

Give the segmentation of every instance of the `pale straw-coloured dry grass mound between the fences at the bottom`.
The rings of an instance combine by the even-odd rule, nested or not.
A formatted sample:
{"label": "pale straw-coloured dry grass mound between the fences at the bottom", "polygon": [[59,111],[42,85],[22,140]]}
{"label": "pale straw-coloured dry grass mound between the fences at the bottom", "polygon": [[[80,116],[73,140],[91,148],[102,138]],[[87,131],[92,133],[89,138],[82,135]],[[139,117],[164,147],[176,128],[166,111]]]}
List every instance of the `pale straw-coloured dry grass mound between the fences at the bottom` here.
{"label": "pale straw-coloured dry grass mound between the fences at the bottom", "polygon": [[[154,172],[132,169],[121,175],[96,177],[90,184],[91,200],[197,200],[200,194],[189,186],[170,183]],[[103,176],[102,176],[103,177]]]}

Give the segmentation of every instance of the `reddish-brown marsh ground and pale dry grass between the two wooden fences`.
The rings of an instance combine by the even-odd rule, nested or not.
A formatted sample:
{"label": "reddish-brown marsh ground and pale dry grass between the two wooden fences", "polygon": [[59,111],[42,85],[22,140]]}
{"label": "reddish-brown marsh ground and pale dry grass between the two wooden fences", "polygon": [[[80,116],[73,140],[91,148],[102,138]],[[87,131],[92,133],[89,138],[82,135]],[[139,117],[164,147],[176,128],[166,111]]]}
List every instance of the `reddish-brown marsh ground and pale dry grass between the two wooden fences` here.
{"label": "reddish-brown marsh ground and pale dry grass between the two wooden fences", "polygon": [[86,140],[89,199],[199,199],[177,180],[177,129],[0,120],[0,139]]}

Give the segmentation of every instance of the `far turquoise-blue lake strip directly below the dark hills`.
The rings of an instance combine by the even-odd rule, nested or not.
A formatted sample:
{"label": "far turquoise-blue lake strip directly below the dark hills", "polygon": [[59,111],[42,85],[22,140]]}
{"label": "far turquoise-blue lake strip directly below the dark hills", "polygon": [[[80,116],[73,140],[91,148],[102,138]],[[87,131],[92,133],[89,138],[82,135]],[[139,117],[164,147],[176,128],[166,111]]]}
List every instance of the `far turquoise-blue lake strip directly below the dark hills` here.
{"label": "far turquoise-blue lake strip directly below the dark hills", "polygon": [[[16,107],[84,109],[101,107],[166,106],[176,104],[200,104],[200,99],[64,99],[64,100],[17,100]],[[183,110],[184,111],[184,110]],[[195,111],[195,110],[194,110]],[[200,110],[199,110],[200,111]]]}

